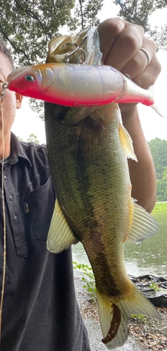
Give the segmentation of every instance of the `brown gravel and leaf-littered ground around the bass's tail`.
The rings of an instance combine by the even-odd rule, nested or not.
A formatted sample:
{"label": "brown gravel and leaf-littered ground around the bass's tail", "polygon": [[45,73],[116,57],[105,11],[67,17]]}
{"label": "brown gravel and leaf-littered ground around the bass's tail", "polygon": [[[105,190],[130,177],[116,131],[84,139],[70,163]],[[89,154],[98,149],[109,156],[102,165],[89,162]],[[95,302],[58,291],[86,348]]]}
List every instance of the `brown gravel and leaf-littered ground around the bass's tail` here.
{"label": "brown gravel and leaf-littered ground around the bass's tail", "polygon": [[[91,331],[91,328],[93,328],[93,334],[89,334],[90,346],[93,351],[107,350],[104,345],[101,345],[101,341],[98,345],[93,343],[93,338],[96,338],[96,335],[100,339],[100,320],[97,303],[93,302],[91,304],[89,302],[88,295],[79,277],[75,277],[74,281],[79,308],[88,329],[88,334],[89,329]],[[146,316],[132,318],[128,325],[129,336],[127,343],[125,343],[125,347],[119,348],[119,350],[167,351],[167,309],[157,308],[157,310],[161,315],[160,321]]]}

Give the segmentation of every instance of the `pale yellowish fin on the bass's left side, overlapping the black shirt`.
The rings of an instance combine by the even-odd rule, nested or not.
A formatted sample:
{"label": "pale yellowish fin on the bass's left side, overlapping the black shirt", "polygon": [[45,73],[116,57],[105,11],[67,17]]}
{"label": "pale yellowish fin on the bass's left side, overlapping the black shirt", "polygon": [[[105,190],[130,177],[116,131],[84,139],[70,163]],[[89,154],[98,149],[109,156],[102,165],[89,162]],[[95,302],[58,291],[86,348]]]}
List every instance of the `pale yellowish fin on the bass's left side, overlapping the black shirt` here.
{"label": "pale yellowish fin on the bass's left side, overlapping the black shirt", "polygon": [[51,252],[59,253],[77,242],[78,240],[74,237],[56,200],[47,236],[47,249]]}

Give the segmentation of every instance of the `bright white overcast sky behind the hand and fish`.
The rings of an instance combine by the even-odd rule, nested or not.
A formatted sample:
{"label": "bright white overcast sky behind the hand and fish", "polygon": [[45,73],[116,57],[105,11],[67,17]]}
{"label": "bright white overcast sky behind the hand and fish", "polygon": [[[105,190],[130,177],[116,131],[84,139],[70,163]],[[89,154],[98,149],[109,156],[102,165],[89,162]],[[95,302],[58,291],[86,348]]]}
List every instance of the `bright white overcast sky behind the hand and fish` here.
{"label": "bright white overcast sky behind the hand and fish", "polygon": [[[100,11],[100,20],[106,20],[109,17],[116,17],[119,6],[111,3],[110,0],[104,0],[104,6]],[[153,13],[150,20],[161,26],[166,23],[167,8],[157,10]],[[164,118],[160,117],[151,107],[138,105],[138,111],[141,118],[141,124],[145,138],[150,141],[156,137],[167,140],[167,52],[159,51],[157,58],[161,63],[161,73],[154,86],[155,104],[161,111]],[[45,123],[30,109],[29,98],[24,98],[22,109],[17,110],[15,122],[12,127],[13,132],[17,137],[26,140],[30,134],[35,134],[40,143],[45,143]]]}

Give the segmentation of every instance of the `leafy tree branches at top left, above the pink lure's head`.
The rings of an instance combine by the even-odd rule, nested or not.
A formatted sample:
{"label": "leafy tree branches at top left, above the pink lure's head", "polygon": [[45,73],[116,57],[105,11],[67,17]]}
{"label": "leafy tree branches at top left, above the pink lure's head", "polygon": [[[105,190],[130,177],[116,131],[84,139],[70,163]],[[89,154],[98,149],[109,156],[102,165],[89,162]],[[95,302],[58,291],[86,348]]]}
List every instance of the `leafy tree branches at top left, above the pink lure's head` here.
{"label": "leafy tree branches at top left, above the pink lure's head", "polygon": [[[1,0],[1,36],[8,42],[17,65],[45,62],[51,38],[96,25],[103,0]],[[73,10],[73,14],[71,10]]]}

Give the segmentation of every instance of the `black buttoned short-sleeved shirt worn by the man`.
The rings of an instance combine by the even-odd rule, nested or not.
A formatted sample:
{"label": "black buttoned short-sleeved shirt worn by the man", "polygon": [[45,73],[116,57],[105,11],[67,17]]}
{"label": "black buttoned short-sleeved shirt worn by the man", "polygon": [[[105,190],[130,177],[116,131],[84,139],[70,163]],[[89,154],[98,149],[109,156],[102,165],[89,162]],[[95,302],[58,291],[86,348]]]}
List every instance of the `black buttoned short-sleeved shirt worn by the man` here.
{"label": "black buttoned short-sleeved shirt worn by the man", "polygon": [[[55,196],[45,145],[19,142],[12,134],[4,189],[7,253],[1,351],[90,351],[74,292],[71,249],[54,254],[46,247]],[[1,284],[2,209],[0,216]]]}

